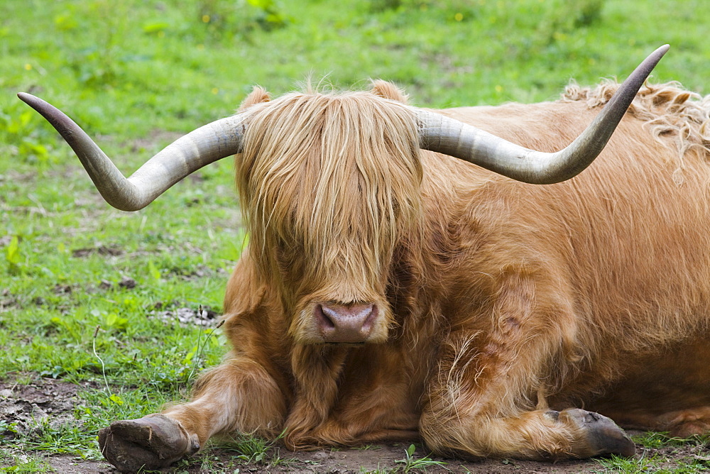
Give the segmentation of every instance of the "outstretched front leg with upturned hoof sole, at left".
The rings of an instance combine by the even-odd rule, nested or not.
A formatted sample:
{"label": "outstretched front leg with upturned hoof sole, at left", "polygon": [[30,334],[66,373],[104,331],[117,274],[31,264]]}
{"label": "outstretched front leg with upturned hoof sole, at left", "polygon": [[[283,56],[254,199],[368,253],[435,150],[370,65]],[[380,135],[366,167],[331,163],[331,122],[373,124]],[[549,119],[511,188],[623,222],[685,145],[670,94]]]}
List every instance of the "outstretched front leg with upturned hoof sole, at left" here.
{"label": "outstretched front leg with upturned hoof sole, at left", "polygon": [[99,431],[99,446],[121,471],[162,468],[198,451],[214,434],[239,431],[273,436],[286,402],[262,365],[232,358],[200,377],[192,401]]}

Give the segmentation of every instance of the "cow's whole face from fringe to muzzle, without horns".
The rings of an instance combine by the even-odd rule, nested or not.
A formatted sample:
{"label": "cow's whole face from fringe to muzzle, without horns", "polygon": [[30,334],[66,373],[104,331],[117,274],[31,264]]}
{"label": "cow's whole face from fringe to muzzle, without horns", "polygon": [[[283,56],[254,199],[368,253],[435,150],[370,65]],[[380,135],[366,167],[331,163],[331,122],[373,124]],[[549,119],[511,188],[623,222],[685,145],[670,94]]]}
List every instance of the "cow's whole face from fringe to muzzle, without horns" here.
{"label": "cow's whole face from fringe to muzzle, without horns", "polygon": [[386,341],[395,243],[417,228],[413,114],[373,94],[291,94],[251,108],[237,157],[259,272],[298,343]]}

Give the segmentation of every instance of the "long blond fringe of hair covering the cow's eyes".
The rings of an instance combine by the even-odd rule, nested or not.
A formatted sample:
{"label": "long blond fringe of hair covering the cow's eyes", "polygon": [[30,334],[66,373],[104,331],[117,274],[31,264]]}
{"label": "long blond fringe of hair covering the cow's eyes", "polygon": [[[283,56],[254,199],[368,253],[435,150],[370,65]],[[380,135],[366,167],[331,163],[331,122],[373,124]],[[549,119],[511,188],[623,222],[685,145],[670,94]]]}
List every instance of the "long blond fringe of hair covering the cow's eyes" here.
{"label": "long blond fringe of hair covering the cow's eyes", "polygon": [[347,277],[380,275],[395,236],[420,215],[413,112],[371,92],[254,94],[263,103],[250,104],[236,160],[253,261],[274,272],[280,249]]}

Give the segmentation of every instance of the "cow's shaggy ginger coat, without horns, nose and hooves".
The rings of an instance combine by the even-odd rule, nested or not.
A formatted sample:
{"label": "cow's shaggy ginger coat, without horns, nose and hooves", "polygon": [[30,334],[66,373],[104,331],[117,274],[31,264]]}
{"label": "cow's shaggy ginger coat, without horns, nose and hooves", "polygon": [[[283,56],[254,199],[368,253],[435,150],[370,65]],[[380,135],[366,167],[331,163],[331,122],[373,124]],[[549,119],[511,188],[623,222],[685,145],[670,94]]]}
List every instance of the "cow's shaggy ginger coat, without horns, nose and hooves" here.
{"label": "cow's shaggy ginger coat, without horns, nose and hooves", "polygon": [[[616,87],[439,112],[554,151]],[[533,186],[420,151],[388,83],[266,98],[246,99],[236,158],[251,243],[226,292],[233,349],[165,412],[201,444],[285,429],[289,448],[591,456],[573,407],[708,431],[708,99],[645,87],[588,170]],[[321,302],[376,304],[373,338],[318,343]]]}

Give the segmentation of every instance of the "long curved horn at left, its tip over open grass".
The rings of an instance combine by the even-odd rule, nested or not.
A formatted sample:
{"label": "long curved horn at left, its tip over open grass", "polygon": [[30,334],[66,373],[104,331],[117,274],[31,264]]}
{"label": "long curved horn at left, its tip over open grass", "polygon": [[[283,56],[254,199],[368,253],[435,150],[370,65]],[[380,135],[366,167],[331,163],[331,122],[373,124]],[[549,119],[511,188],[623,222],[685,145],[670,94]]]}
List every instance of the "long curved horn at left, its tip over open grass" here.
{"label": "long curved horn at left, its tip over open grass", "polygon": [[106,202],[138,211],[204,165],[241,152],[245,114],[208,123],[178,138],[126,179],[94,140],[71,118],[31,94],[17,96],[38,111],[67,140]]}

